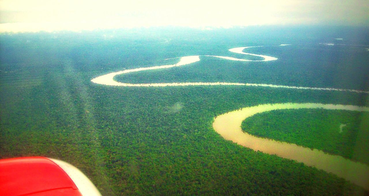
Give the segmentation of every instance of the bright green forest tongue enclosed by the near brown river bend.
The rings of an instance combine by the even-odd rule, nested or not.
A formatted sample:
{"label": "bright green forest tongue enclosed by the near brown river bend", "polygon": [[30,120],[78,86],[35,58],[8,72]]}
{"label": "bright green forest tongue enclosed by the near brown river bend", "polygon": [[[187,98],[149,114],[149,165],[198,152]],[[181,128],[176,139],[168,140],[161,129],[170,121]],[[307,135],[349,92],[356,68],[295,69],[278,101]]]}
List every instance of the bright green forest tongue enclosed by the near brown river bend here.
{"label": "bright green forest tongue enclosed by the near brown river bend", "polygon": [[245,119],[241,127],[259,137],[323,150],[369,165],[369,112],[272,110]]}

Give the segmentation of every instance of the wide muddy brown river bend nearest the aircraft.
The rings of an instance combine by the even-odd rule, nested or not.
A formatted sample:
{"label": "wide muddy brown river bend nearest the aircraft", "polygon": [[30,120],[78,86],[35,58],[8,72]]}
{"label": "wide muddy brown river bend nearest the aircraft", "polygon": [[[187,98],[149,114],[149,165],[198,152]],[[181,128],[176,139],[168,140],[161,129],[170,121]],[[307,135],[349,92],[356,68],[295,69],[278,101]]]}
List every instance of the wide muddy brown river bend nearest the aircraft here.
{"label": "wide muddy brown river bend nearest the aircraft", "polygon": [[259,138],[241,129],[244,119],[256,113],[266,112],[276,109],[299,109],[299,108],[323,108],[342,109],[369,112],[368,107],[354,105],[332,105],[316,103],[287,103],[287,104],[265,104],[248,108],[242,108],[215,117],[213,127],[223,138],[231,140],[239,145],[261,151],[270,155],[277,155],[287,159],[302,162],[308,166],[331,172],[339,177],[345,178],[356,185],[369,190],[369,166],[363,163],[351,161],[338,155],[329,155],[321,150],[311,150],[296,144],[279,142],[272,139]]}

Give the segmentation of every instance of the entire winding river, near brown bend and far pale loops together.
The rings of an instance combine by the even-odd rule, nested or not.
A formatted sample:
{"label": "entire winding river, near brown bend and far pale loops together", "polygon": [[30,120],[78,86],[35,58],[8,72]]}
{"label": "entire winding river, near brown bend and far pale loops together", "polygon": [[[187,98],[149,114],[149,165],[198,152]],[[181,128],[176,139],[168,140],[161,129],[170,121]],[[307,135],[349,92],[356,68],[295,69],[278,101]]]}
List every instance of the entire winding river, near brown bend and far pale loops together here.
{"label": "entire winding river, near brown bend and far pale loops together", "polygon": [[[280,44],[284,47],[290,44]],[[251,46],[251,47],[263,47],[263,46]],[[275,61],[278,58],[270,57],[267,55],[251,54],[243,52],[246,48],[251,47],[237,47],[231,48],[229,51],[251,55],[263,58],[262,60],[249,60],[239,59],[233,57],[214,56],[214,55],[195,55],[180,57],[180,61],[173,65],[160,65],[146,68],[127,69],[119,72],[108,73],[92,79],[91,81],[96,84],[103,84],[108,86],[130,86],[130,87],[165,87],[165,86],[193,86],[193,85],[237,85],[237,86],[256,86],[256,87],[270,87],[270,88],[297,88],[297,89],[310,89],[310,90],[330,90],[330,91],[351,91],[356,93],[367,93],[369,91],[360,91],[352,89],[339,89],[339,88],[318,88],[318,87],[297,87],[297,86],[285,86],[275,84],[253,84],[253,83],[227,83],[227,82],[187,82],[187,83],[144,83],[144,84],[131,84],[121,83],[114,80],[114,76],[139,72],[152,69],[166,69],[176,66],[188,65],[200,61],[200,57],[221,58],[231,61]],[[366,190],[369,190],[369,166],[345,159],[337,155],[329,155],[320,150],[305,148],[297,146],[296,144],[289,144],[286,142],[279,142],[272,139],[258,138],[250,134],[244,133],[241,130],[241,123],[247,117],[255,115],[256,113],[266,112],[275,109],[298,109],[298,108],[324,108],[324,109],[344,109],[355,111],[368,111],[367,107],[353,106],[353,105],[332,105],[332,104],[319,104],[319,103],[286,103],[286,104],[265,104],[258,105],[241,110],[235,110],[215,117],[213,127],[222,137],[231,140],[239,145],[259,150],[264,153],[277,155],[287,159],[293,159],[302,162],[308,166],[314,166],[318,169],[322,169],[327,172],[336,174],[339,177],[345,178],[356,185],[362,186]]]}

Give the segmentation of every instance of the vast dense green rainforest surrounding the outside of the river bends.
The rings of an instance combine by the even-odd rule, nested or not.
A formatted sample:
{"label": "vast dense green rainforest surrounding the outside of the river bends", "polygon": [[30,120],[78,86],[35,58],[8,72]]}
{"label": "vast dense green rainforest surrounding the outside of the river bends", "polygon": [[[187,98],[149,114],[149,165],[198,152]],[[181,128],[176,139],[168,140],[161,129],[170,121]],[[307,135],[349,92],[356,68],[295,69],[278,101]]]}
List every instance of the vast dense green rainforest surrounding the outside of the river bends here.
{"label": "vast dense green rainforest surrounding the outside of the river bends", "polygon": [[[214,116],[259,104],[368,106],[365,93],[245,86],[112,87],[90,81],[113,71],[176,63],[166,58],[247,58],[228,49],[289,43],[293,45],[249,49],[279,58],[274,62],[204,58],[116,78],[131,83],[220,80],[368,91],[369,55],[363,47],[318,44],[346,36],[351,44],[368,45],[363,43],[369,40],[367,29],[354,32],[270,27],[2,34],[0,158],[67,161],[103,195],[368,195],[334,174],[227,141],[212,127]],[[293,52],[299,48],[310,53]]]}

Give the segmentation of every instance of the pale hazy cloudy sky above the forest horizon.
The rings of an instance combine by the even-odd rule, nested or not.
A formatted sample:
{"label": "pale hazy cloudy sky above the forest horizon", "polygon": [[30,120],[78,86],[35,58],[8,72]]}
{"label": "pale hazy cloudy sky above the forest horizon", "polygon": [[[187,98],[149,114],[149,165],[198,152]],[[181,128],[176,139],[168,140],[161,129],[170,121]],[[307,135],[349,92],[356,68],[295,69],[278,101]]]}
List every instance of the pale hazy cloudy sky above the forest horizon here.
{"label": "pale hazy cloudy sky above the forest horizon", "polygon": [[369,0],[0,0],[0,32],[136,26],[369,26]]}

